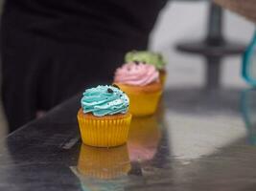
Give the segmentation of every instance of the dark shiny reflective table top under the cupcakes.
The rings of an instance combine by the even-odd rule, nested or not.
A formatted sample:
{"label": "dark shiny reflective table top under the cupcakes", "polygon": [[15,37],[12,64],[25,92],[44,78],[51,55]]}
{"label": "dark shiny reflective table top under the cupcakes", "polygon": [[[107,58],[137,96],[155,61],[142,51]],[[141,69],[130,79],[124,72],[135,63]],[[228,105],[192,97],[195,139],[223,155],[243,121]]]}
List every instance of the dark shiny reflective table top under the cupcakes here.
{"label": "dark shiny reflective table top under the cupcakes", "polygon": [[80,96],[2,140],[0,190],[253,190],[256,90],[169,90],[128,143],[81,144]]}

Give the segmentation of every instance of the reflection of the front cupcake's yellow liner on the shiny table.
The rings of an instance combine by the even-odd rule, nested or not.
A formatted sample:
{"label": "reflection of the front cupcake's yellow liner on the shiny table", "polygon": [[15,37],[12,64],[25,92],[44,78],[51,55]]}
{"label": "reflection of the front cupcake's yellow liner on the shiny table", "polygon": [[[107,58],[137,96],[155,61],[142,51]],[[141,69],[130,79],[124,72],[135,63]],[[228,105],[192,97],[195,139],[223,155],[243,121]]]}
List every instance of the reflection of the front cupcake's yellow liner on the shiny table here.
{"label": "reflection of the front cupcake's yellow liner on the shiny table", "polygon": [[82,176],[114,179],[128,174],[130,162],[127,145],[96,148],[81,144],[78,171]]}

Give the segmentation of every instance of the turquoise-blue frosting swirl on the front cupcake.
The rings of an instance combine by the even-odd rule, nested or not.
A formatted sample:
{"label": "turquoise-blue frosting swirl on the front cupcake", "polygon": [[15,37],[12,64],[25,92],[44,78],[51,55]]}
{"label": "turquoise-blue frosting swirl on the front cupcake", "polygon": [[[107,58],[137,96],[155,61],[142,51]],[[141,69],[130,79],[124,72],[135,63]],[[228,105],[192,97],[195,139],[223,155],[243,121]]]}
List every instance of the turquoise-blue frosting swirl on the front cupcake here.
{"label": "turquoise-blue frosting swirl on the front cupcake", "polygon": [[94,116],[126,114],[128,112],[128,96],[114,86],[97,86],[83,92],[81,108],[84,114]]}

